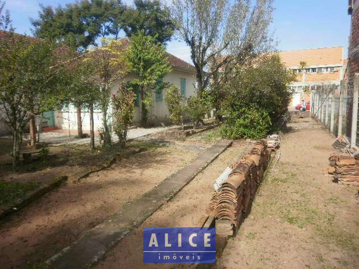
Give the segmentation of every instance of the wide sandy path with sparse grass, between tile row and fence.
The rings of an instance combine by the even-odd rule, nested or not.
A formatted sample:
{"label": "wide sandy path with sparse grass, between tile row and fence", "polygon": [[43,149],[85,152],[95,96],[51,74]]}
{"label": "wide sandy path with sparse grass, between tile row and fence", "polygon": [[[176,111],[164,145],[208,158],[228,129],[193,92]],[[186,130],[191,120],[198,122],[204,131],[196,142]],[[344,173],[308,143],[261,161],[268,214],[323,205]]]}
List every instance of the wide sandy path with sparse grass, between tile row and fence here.
{"label": "wide sandy path with sparse grass, between tile row and fence", "polygon": [[250,216],[212,268],[359,268],[358,188],[326,176],[334,137],[307,119],[284,136],[281,158]]}

